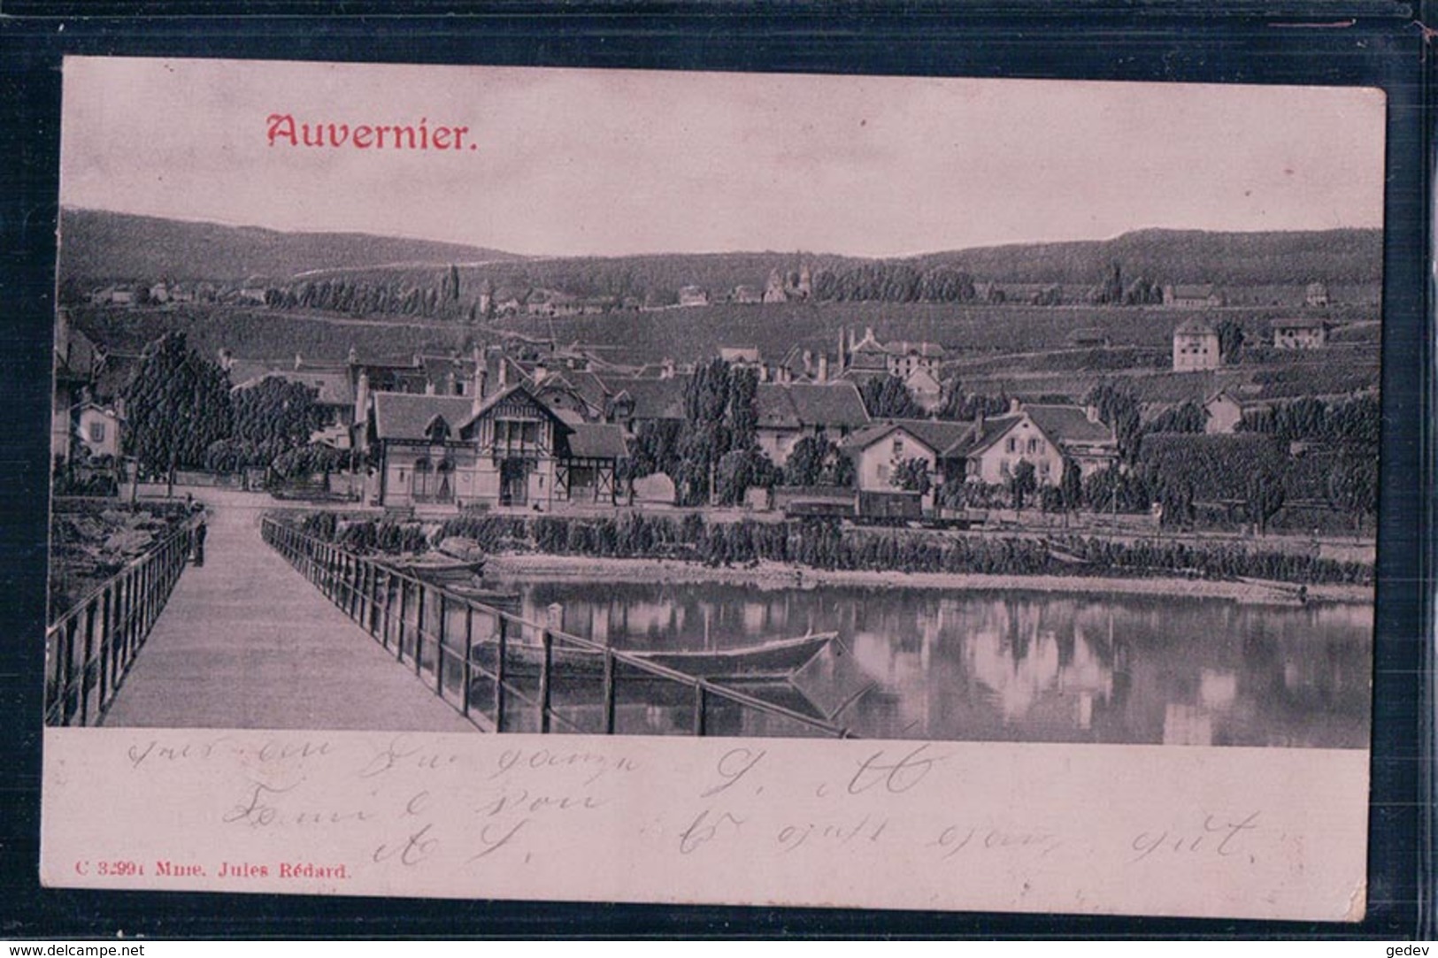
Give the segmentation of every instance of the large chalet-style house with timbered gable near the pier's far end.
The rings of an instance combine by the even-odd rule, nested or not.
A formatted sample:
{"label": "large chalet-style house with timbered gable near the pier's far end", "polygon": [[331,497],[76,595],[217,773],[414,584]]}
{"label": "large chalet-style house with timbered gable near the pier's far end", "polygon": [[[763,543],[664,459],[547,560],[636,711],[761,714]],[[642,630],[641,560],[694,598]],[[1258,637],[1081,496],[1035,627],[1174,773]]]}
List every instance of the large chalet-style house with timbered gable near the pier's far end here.
{"label": "large chalet-style house with timbered gable near the pier's far end", "polygon": [[375,393],[367,498],[385,508],[462,509],[618,501],[624,433],[568,421],[529,384],[487,397]]}

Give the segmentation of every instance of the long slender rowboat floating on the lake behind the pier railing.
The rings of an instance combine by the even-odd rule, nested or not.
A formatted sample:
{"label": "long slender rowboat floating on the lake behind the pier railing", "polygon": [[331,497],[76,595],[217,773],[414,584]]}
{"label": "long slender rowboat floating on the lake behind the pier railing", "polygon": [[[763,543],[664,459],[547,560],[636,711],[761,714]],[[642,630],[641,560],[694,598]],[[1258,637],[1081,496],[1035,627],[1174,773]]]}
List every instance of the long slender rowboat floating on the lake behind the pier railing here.
{"label": "long slender rowboat floating on the lake behind the pier railing", "polygon": [[[640,659],[674,672],[695,676],[697,679],[738,679],[746,682],[771,682],[788,679],[791,675],[808,665],[814,656],[823,652],[838,633],[823,631],[798,636],[794,639],[775,639],[774,642],[741,649],[706,649],[706,650],[628,650],[617,649],[630,659]],[[487,672],[493,672],[498,659],[498,642],[493,639],[476,643],[473,656],[476,665]],[[538,672],[544,650],[539,646],[526,643],[510,643],[505,646],[506,672]],[[568,649],[555,644],[551,650],[551,669],[558,678],[565,675],[597,675],[604,670],[604,653],[588,649]],[[620,666],[624,669],[624,666]],[[628,670],[624,678],[634,678]]]}

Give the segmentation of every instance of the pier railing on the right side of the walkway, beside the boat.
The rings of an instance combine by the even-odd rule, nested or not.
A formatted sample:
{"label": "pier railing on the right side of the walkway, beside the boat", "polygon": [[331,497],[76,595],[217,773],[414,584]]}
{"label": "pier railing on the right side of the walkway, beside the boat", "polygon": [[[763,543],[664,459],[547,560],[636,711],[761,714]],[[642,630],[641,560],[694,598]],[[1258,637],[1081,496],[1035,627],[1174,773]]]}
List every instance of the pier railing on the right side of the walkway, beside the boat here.
{"label": "pier railing on the right side of the walkway, beside the boat", "polygon": [[[266,516],[260,531],[395,662],[480,729],[850,736],[818,715],[526,621],[286,522]],[[664,716],[682,721],[666,724]]]}

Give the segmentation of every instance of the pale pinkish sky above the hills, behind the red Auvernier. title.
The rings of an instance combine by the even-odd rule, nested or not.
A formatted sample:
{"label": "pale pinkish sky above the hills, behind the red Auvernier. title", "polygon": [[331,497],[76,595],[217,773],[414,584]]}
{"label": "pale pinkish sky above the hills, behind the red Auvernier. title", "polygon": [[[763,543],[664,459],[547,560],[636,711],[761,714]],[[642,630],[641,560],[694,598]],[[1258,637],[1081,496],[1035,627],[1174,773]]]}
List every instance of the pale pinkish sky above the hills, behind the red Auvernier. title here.
{"label": "pale pinkish sky above the hills, behind the red Auvernier. title", "polygon": [[[1373,227],[1383,109],[1356,88],[68,58],[60,203],[535,256]],[[469,132],[272,145],[270,115]]]}

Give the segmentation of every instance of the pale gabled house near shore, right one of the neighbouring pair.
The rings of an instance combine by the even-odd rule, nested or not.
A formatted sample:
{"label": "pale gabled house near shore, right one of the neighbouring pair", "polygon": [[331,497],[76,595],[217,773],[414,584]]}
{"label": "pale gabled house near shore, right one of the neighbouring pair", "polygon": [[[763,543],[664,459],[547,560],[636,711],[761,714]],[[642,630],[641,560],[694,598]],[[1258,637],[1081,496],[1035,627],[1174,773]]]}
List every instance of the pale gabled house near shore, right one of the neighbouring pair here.
{"label": "pale gabled house near shore, right one of the neighbouring pair", "polygon": [[1058,485],[1064,459],[1073,460],[1081,476],[1090,476],[1117,462],[1119,443],[1093,406],[1014,400],[1007,414],[974,423],[965,459],[969,480],[1005,483],[1018,463],[1028,460],[1038,485]]}

